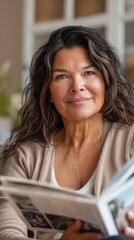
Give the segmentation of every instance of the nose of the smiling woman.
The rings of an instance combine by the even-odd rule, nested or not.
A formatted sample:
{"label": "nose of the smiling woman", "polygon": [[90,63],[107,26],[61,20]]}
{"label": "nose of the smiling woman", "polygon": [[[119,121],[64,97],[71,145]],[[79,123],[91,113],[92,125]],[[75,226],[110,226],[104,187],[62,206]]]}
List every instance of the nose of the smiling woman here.
{"label": "nose of the smiling woman", "polygon": [[71,93],[82,92],[85,90],[84,81],[81,77],[72,80]]}

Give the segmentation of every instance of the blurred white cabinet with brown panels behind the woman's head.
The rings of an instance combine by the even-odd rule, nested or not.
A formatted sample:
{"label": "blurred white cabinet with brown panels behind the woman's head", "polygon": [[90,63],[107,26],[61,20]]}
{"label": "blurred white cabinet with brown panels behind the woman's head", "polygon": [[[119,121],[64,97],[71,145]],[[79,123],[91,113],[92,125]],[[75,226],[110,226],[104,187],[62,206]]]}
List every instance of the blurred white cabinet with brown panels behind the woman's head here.
{"label": "blurred white cabinet with brown panels behind the woman's head", "polygon": [[75,24],[99,29],[134,79],[134,0],[24,0],[23,12],[23,79],[33,53],[50,32]]}

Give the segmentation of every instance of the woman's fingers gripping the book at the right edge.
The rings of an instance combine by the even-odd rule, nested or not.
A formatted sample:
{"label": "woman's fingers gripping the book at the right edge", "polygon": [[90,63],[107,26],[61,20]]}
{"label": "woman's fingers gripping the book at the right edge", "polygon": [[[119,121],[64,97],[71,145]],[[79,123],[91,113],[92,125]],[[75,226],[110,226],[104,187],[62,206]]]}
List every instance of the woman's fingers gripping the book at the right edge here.
{"label": "woman's fingers gripping the book at the right edge", "polygon": [[126,218],[129,222],[129,226],[123,229],[123,233],[128,237],[134,237],[134,212],[128,211]]}

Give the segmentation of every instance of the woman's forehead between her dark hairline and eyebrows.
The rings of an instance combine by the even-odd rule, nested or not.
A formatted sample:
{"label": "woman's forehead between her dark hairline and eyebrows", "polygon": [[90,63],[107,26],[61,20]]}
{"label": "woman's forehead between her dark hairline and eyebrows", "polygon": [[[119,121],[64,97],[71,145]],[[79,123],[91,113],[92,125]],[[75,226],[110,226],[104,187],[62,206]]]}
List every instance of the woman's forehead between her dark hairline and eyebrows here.
{"label": "woman's forehead between her dark hairline and eyebrows", "polygon": [[68,64],[91,63],[88,51],[83,47],[63,48],[53,58],[52,68]]}

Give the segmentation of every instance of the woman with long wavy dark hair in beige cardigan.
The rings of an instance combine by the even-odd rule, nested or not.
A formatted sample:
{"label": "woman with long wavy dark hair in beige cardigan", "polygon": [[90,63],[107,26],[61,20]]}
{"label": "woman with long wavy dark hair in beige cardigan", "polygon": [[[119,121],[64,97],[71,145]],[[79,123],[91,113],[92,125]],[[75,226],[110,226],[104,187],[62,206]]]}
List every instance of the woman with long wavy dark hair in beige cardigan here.
{"label": "woman with long wavy dark hair in beige cardigan", "polygon": [[[53,32],[34,55],[21,124],[5,148],[4,174],[99,196],[134,156],[134,98],[116,52],[94,29]],[[105,175],[103,174],[105,172]],[[134,222],[134,213],[126,216]],[[1,203],[0,239],[28,239],[24,223]],[[97,239],[70,225],[62,240]],[[134,229],[123,229],[134,237]],[[38,233],[41,239],[57,239]]]}

